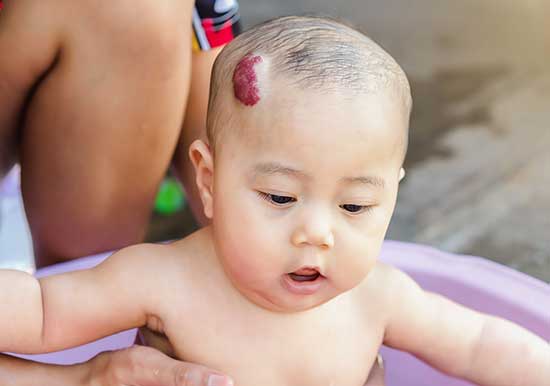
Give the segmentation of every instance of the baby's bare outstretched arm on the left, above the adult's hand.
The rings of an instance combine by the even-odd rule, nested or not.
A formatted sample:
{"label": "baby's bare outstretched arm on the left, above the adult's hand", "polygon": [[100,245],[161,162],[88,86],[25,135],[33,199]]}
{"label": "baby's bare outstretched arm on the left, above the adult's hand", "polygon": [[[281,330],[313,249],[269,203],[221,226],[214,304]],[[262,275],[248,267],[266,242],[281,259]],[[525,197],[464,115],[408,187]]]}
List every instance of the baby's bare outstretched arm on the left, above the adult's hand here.
{"label": "baby's bare outstretched arm on the left, above the adult's hand", "polygon": [[154,312],[155,248],[126,248],[93,269],[40,280],[0,270],[0,352],[55,351],[144,325]]}

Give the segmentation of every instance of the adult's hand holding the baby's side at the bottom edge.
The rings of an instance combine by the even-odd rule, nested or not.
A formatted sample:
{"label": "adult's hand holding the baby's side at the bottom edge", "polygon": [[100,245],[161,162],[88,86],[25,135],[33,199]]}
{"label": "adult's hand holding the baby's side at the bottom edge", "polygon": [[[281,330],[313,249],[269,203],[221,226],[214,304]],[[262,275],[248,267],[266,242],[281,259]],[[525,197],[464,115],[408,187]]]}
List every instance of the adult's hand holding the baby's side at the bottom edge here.
{"label": "adult's hand holding the baby's side at the bottom edge", "polygon": [[99,354],[90,363],[90,386],[232,386],[233,381],[204,366],[172,359],[145,346]]}

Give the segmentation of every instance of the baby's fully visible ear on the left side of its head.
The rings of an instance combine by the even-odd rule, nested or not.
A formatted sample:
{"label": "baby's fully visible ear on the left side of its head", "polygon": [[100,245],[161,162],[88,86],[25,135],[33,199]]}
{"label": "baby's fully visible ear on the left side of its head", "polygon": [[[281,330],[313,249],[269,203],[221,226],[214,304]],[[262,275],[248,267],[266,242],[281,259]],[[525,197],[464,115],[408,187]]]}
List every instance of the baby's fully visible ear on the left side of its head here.
{"label": "baby's fully visible ear on the left side of its head", "polygon": [[189,146],[189,158],[195,167],[195,182],[201,197],[204,215],[212,219],[214,210],[214,159],[210,146],[197,139]]}

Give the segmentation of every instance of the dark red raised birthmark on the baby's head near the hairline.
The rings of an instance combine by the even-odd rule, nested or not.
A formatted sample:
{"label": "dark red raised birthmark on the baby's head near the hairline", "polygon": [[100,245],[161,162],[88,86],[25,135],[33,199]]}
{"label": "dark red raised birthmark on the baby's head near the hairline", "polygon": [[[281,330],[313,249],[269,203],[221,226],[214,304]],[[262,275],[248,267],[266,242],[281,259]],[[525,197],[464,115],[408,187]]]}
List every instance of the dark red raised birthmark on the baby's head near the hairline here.
{"label": "dark red raised birthmark on the baby's head near the hairline", "polygon": [[254,66],[262,61],[261,56],[246,55],[241,59],[233,73],[233,89],[235,98],[246,106],[254,106],[260,100],[258,77]]}

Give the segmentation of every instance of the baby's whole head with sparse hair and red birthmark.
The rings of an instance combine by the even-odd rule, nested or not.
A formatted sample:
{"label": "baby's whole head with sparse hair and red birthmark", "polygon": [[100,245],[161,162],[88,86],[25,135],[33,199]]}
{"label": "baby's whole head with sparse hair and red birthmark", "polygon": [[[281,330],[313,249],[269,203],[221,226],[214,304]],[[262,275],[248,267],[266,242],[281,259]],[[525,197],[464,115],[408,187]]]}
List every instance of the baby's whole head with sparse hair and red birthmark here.
{"label": "baby's whole head with sparse hair and red birthmark", "polygon": [[397,197],[411,97],[378,45],[334,20],[285,17],[231,42],[212,73],[208,142],[190,156],[234,286],[276,311],[352,289]]}

